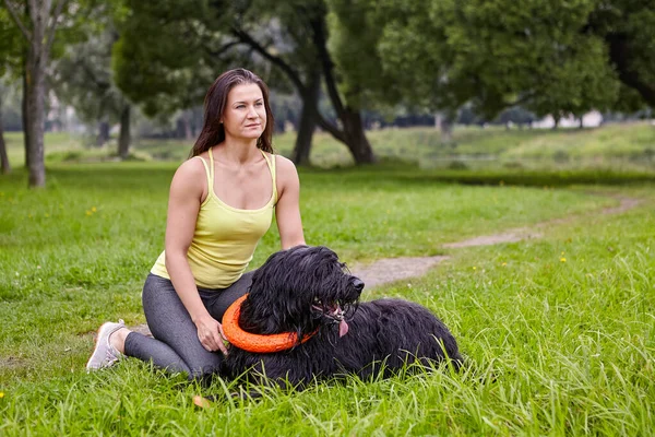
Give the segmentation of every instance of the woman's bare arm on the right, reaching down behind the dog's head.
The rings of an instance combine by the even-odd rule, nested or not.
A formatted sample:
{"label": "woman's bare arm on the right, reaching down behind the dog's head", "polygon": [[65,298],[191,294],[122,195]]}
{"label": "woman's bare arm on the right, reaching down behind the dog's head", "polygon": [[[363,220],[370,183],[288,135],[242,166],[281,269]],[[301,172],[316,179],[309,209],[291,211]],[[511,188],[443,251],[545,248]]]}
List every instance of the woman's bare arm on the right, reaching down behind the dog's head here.
{"label": "woman's bare arm on the right, reaching down behind the dog's head", "polygon": [[283,249],[305,244],[302,220],[300,218],[300,180],[293,162],[276,155],[277,204],[275,217]]}

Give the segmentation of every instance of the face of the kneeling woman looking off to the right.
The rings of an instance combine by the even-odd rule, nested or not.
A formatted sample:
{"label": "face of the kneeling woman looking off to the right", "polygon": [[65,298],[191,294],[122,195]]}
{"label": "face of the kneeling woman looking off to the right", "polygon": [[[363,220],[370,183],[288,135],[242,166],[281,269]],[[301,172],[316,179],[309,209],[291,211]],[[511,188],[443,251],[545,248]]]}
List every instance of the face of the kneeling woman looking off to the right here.
{"label": "face of the kneeling woman looking off to the right", "polygon": [[231,88],[222,121],[226,139],[260,138],[266,127],[266,108],[260,87],[254,83],[246,83]]}

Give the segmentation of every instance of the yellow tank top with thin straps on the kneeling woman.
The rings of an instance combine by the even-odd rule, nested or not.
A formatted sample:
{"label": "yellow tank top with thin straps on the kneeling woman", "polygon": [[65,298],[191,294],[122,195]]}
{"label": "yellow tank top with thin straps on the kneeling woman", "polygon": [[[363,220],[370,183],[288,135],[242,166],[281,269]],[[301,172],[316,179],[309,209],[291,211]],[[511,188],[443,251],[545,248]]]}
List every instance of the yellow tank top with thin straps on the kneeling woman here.
{"label": "yellow tank top with thin straps on the kneeling woman", "polygon": [[[275,184],[275,156],[262,151],[273,179],[273,194],[258,210],[240,210],[223,202],[214,193],[214,157],[209,150],[210,165],[200,156],[207,175],[207,198],[200,205],[195,232],[187,252],[187,260],[203,288],[226,288],[237,281],[252,260],[259,240],[271,227],[273,210],[277,202]],[[166,270],[166,252],[162,252],[151,273],[170,279]]]}

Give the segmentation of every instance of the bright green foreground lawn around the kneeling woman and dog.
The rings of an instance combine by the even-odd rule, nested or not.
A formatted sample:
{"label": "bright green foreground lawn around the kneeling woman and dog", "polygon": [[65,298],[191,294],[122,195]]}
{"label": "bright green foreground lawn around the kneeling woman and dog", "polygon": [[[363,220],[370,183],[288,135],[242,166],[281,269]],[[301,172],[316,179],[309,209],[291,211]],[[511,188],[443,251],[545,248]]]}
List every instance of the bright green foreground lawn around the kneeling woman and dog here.
{"label": "bright green foreground lawn around the kneeling woman and dog", "polygon": [[[0,434],[648,434],[654,421],[652,185],[444,184],[413,168],[302,170],[310,244],[348,263],[446,252],[422,279],[365,292],[433,309],[471,367],[194,409],[211,388],[126,361],[86,375],[92,331],[143,322],[140,288],[163,247],[175,165],[55,165],[0,188]],[[528,181],[528,180],[526,180]],[[534,185],[534,184],[528,184]],[[620,216],[595,212],[643,199]],[[539,240],[442,250],[572,215]],[[544,229],[541,229],[544,231]],[[264,238],[253,261],[276,249]],[[234,389],[234,388],[231,388]]]}

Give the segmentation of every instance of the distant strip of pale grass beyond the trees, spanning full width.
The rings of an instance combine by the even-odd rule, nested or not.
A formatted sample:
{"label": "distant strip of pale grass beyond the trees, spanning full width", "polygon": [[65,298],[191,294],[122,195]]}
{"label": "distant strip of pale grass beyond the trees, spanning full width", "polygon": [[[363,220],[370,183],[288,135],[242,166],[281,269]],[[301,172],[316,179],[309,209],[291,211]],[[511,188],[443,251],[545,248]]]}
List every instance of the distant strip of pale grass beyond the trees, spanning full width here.
{"label": "distant strip of pale grass beyond the trees, spanning full width", "polygon": [[[367,132],[374,153],[382,161],[409,162],[422,168],[455,169],[614,169],[655,170],[655,126],[648,121],[610,123],[586,129],[504,129],[498,126],[456,126],[453,139],[444,142],[434,128],[386,128]],[[23,165],[22,133],[5,133],[10,162]],[[275,149],[289,156],[295,132],[276,134]],[[116,160],[116,139],[94,147],[91,137],[48,132],[46,160],[97,162]],[[193,141],[177,139],[134,139],[131,158],[180,162],[189,155]],[[325,132],[313,138],[312,165],[349,166],[346,147]]]}

